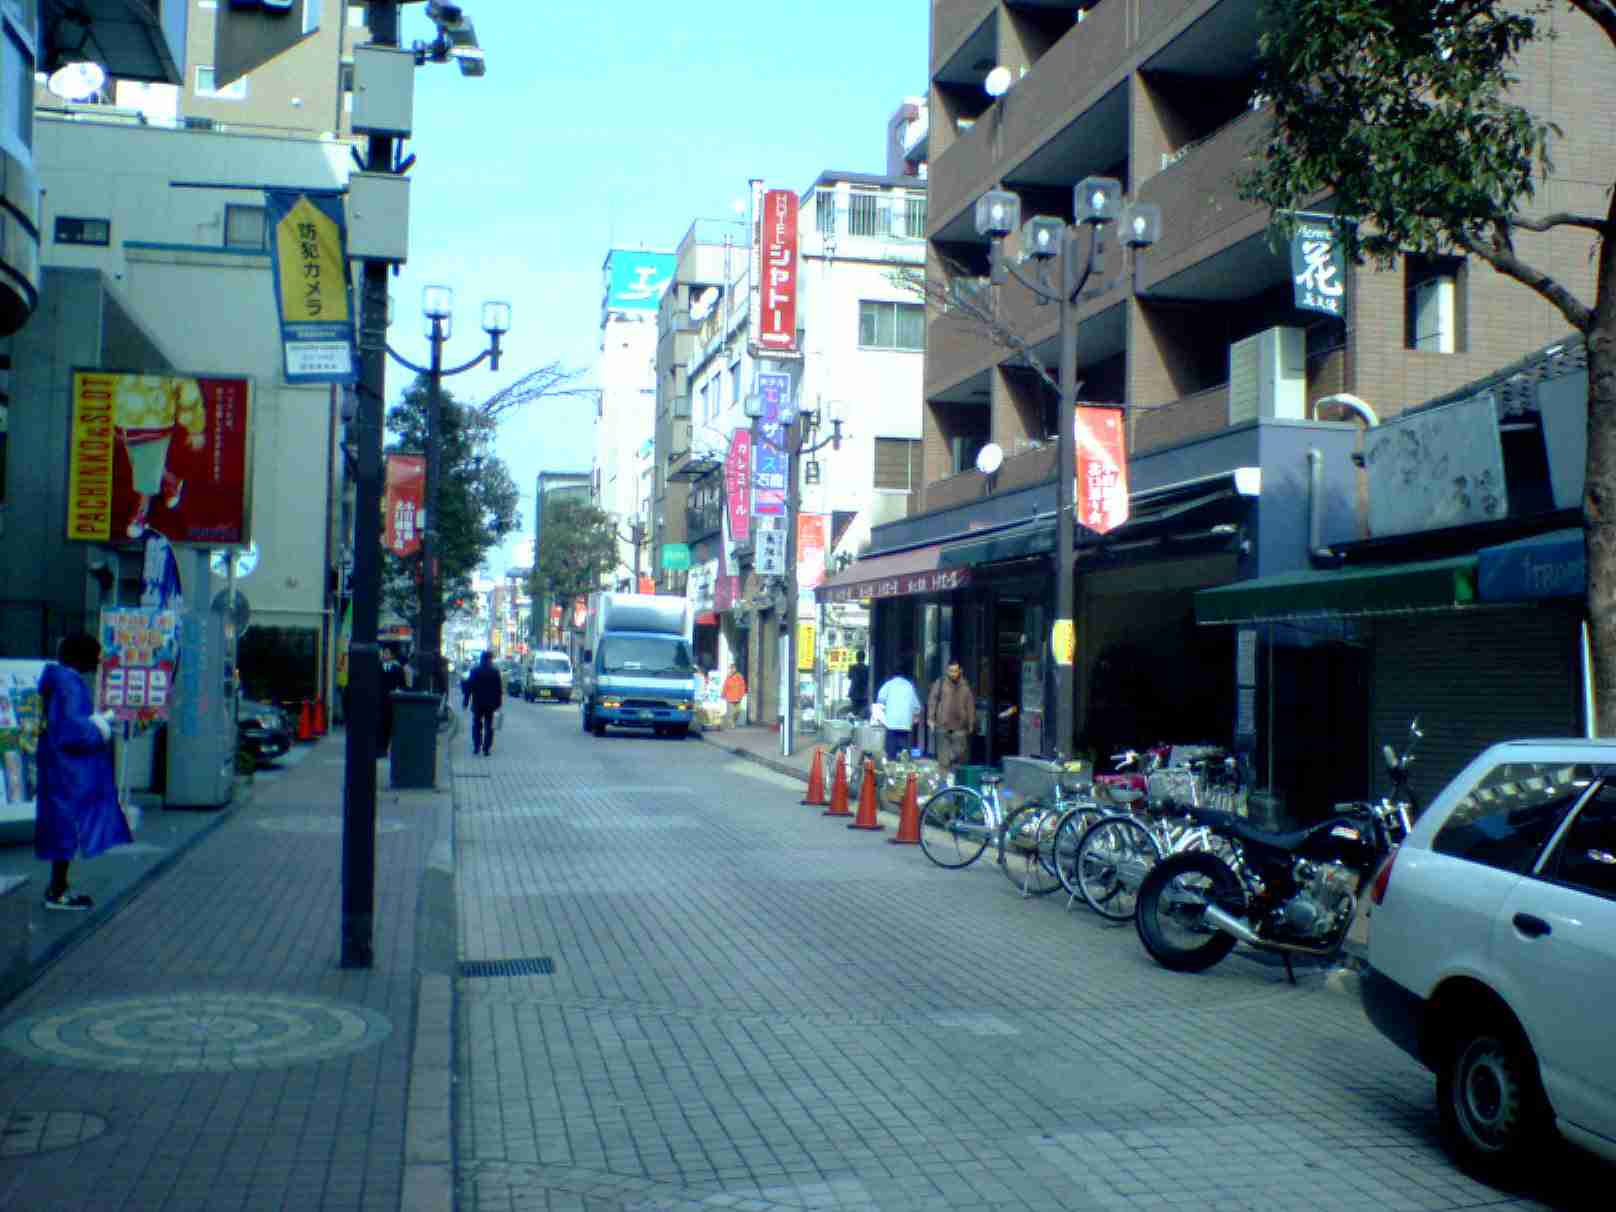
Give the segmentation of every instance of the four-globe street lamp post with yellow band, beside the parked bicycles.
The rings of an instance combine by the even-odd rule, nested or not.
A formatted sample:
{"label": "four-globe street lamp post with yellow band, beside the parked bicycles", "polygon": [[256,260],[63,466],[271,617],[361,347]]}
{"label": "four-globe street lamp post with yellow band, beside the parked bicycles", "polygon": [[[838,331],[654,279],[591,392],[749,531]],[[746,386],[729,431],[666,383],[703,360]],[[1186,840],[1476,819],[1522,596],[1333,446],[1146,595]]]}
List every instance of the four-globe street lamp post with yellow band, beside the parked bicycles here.
{"label": "four-globe street lamp post with yellow band, beside the parked bicycles", "polygon": [[[1055,756],[1071,756],[1075,734],[1073,661],[1065,648],[1075,637],[1076,617],[1076,404],[1078,404],[1078,302],[1104,294],[1117,281],[1088,291],[1089,276],[1100,265],[1105,228],[1122,221],[1123,244],[1149,247],[1162,231],[1162,208],[1152,202],[1122,200],[1122,183],[1109,176],[1089,176],[1073,189],[1071,213],[1076,226],[1060,218],[1037,215],[1021,225],[1021,199],[1004,189],[992,189],[976,202],[976,233],[992,242],[992,283],[1002,284],[1008,273],[1041,302],[1060,305],[1060,406],[1055,422],[1055,625],[1050,650],[1055,659]],[[1021,257],[1037,263],[1037,278],[1023,275],[1004,254],[1004,238],[1021,231]],[[1079,254],[1079,228],[1089,229],[1089,247]],[[1044,265],[1058,262],[1060,286],[1044,281]],[[1054,642],[1054,637],[1062,642]]]}

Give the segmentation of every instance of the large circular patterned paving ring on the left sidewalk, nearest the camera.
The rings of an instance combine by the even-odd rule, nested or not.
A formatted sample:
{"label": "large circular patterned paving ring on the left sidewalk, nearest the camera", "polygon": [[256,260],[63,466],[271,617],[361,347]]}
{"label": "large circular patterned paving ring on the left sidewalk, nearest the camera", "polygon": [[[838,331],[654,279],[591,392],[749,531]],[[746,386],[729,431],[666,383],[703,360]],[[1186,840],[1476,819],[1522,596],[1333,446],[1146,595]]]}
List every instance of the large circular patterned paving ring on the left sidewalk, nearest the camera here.
{"label": "large circular patterned paving ring on the left sidewalk, nearest the camera", "polygon": [[391,1031],[373,1010],[318,997],[175,994],[31,1015],[0,1033],[0,1046],[71,1068],[229,1073],[328,1060]]}

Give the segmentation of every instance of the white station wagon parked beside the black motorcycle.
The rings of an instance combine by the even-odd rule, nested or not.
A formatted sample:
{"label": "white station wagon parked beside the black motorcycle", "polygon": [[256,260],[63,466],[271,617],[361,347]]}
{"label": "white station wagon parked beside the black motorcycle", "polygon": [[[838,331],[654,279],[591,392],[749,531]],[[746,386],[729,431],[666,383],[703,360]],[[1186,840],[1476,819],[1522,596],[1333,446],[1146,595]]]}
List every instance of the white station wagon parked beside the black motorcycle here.
{"label": "white station wagon parked beside the black motorcycle", "polygon": [[1370,892],[1364,1010],[1501,1175],[1551,1130],[1616,1160],[1616,742],[1493,745]]}

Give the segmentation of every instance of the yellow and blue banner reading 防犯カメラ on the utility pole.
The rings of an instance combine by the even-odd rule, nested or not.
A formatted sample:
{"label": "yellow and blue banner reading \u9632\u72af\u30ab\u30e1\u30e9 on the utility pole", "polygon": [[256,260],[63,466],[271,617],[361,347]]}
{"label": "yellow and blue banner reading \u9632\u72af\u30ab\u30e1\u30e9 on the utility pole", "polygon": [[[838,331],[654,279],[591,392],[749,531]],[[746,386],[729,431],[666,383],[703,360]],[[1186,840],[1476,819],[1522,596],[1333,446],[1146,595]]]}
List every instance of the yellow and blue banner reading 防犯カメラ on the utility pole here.
{"label": "yellow and blue banner reading \u9632\u72af\u30ab\u30e1\u30e9 on the utility pole", "polygon": [[286,381],[352,383],[354,315],[341,199],[284,189],[263,196]]}

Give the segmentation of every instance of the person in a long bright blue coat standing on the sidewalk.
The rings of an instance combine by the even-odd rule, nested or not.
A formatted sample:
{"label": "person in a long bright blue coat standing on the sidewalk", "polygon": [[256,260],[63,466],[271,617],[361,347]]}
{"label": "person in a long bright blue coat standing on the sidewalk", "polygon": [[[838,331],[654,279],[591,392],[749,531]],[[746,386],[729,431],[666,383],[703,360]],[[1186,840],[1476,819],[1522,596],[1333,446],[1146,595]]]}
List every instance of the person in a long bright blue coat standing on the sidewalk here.
{"label": "person in a long bright blue coat standing on the sidewalk", "polygon": [[45,908],[94,908],[94,900],[68,887],[68,865],[134,840],[118,805],[112,714],[95,711],[86,682],[99,664],[100,643],[79,632],[61,640],[57,663],[39,675],[45,729],[39,737],[34,855],[50,863]]}

